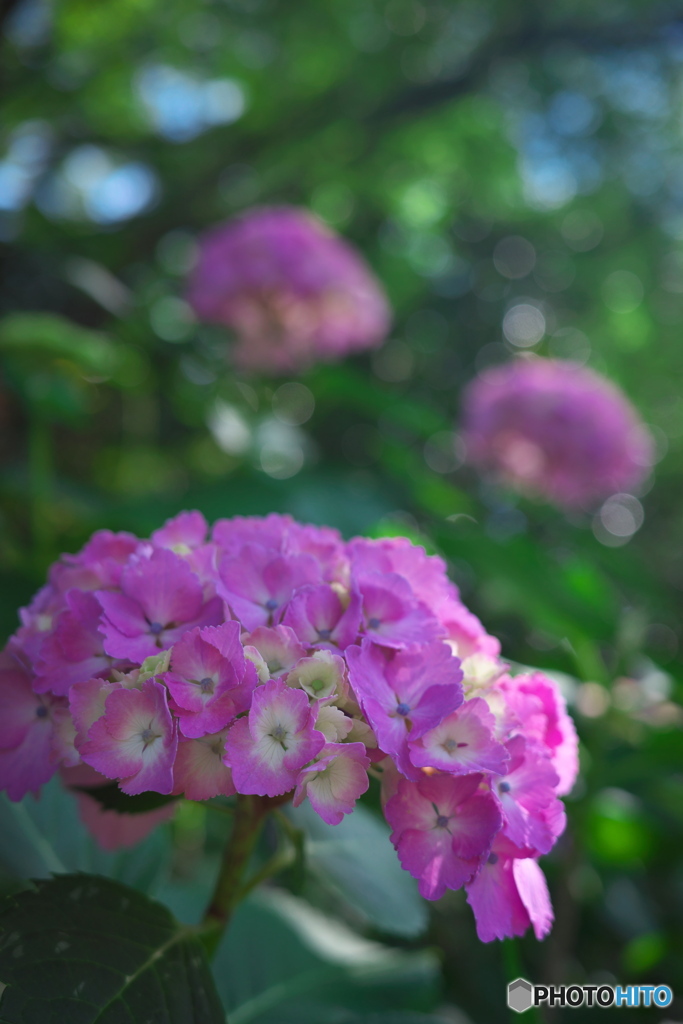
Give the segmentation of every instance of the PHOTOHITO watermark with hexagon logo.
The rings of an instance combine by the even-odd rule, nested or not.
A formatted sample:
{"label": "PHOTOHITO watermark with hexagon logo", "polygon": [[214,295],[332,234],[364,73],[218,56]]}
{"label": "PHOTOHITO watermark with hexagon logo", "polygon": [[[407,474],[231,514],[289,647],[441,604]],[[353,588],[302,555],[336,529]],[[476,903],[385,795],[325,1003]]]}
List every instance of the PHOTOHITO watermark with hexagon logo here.
{"label": "PHOTOHITO watermark with hexagon logo", "polygon": [[668,1007],[669,985],[532,985],[517,978],[508,985],[508,1006],[518,1014],[531,1007]]}

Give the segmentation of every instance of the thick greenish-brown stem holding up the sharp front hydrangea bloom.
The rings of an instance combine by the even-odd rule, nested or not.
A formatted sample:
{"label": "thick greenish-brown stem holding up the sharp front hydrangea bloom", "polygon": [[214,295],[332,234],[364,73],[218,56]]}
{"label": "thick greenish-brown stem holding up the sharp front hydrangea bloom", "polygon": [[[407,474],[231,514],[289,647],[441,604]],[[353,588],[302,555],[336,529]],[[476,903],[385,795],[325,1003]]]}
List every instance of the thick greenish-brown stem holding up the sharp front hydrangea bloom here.
{"label": "thick greenish-brown stem holding up the sharp front hydrangea bloom", "polygon": [[244,876],[268,810],[268,802],[261,797],[237,798],[232,831],[202,923],[203,941],[210,956],[244,894]]}

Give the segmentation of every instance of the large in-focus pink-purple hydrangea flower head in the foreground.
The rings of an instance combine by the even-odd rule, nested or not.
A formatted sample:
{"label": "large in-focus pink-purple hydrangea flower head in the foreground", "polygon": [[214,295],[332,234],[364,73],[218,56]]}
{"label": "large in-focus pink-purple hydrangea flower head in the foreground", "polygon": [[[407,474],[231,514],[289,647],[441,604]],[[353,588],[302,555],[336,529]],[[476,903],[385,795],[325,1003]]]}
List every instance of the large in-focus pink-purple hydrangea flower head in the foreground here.
{"label": "large in-focus pink-purple hydrangea flower head in the foreground", "polygon": [[329,824],[381,780],[427,899],[465,887],[482,940],[543,937],[538,859],[561,835],[577,735],[556,684],[511,676],[445,564],[403,538],[183,512],[101,530],[52,566],[0,654],[0,787],[60,770],[108,849],[169,813],[103,810],[116,781],[308,800]]}

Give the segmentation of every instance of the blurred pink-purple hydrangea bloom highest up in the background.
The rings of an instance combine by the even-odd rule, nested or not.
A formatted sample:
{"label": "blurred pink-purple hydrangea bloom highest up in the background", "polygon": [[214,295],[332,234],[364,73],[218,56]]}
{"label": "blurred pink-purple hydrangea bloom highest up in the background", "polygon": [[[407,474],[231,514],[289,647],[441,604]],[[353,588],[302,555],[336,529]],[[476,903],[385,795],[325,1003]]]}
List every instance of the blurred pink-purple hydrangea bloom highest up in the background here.
{"label": "blurred pink-purple hydrangea bloom highest up in the background", "polygon": [[373,348],[390,323],[362,258],[292,207],[257,209],[208,231],[187,299],[199,319],[234,332],[237,366],[266,374]]}

